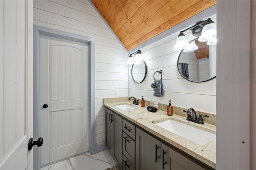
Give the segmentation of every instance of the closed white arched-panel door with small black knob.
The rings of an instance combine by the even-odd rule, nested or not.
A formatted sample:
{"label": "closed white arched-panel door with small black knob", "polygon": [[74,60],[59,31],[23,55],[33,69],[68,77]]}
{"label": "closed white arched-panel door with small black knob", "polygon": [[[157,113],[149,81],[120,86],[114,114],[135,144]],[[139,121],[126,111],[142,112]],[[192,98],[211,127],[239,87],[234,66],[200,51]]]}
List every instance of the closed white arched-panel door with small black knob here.
{"label": "closed white arched-panel door with small black knob", "polygon": [[40,44],[43,166],[89,151],[89,45],[43,35]]}

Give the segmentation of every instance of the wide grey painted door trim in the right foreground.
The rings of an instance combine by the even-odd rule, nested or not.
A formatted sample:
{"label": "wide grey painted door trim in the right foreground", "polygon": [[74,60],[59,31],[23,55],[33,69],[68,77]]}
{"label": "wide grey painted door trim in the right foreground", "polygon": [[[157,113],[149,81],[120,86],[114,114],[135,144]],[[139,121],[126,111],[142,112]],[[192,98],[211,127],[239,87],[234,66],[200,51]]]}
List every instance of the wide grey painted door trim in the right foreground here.
{"label": "wide grey painted door trim in the right foreground", "polygon": [[251,7],[251,1],[217,1],[216,169],[252,169],[255,160],[250,157],[255,142],[250,136]]}

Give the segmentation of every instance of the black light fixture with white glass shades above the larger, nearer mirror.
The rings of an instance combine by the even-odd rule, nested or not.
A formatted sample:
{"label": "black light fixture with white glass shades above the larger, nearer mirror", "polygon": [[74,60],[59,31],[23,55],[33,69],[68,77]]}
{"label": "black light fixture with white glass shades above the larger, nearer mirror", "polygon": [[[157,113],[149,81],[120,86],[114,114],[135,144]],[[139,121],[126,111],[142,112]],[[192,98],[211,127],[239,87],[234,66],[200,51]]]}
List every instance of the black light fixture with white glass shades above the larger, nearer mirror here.
{"label": "black light fixture with white glass shades above the larger, nearer mirror", "polygon": [[211,20],[211,18],[208,18],[207,20],[200,21],[196,23],[194,26],[191,26],[190,28],[187,28],[186,30],[183,30],[178,35],[178,38],[176,40],[176,44],[174,46],[175,50],[182,50],[183,51],[193,51],[196,50],[198,47],[196,46],[195,42],[191,42],[188,44],[187,39],[183,32],[191,30],[193,36],[200,36],[198,38],[198,41],[200,42],[206,42],[207,45],[215,45],[217,43],[217,29],[216,24]]}

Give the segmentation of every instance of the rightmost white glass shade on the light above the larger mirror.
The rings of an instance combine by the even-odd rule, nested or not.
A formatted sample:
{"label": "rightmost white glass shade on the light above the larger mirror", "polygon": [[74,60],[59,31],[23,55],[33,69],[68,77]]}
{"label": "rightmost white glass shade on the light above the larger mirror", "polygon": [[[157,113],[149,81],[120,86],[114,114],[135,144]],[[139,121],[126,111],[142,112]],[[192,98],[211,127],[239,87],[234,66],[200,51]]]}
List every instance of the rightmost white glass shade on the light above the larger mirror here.
{"label": "rightmost white glass shade on the light above the larger mirror", "polygon": [[202,30],[202,35],[199,37],[198,41],[205,42],[210,40],[215,34],[217,34],[217,26],[214,23],[210,23],[204,26]]}

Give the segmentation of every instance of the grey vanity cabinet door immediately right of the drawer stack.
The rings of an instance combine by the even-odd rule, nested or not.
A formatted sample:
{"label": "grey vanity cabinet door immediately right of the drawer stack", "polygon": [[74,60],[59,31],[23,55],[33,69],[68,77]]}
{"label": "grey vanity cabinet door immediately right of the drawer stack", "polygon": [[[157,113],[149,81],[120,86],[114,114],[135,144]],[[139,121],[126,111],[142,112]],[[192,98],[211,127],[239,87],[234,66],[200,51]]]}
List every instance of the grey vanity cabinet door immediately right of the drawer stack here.
{"label": "grey vanity cabinet door immediately right of the drawer stack", "polygon": [[161,142],[136,128],[136,170],[161,170]]}

